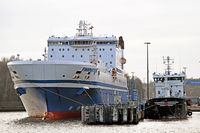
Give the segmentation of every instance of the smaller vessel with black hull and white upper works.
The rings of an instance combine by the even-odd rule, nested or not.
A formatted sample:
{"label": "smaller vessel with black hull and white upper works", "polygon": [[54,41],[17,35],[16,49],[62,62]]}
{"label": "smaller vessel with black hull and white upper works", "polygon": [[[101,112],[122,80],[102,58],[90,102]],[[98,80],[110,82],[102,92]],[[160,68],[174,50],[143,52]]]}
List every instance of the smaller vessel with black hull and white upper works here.
{"label": "smaller vessel with black hull and white upper works", "polygon": [[145,118],[187,118],[191,112],[187,109],[187,100],[184,88],[186,74],[172,73],[171,65],[174,60],[169,56],[163,58],[167,66],[164,74],[153,73],[155,98],[147,100],[145,104]]}

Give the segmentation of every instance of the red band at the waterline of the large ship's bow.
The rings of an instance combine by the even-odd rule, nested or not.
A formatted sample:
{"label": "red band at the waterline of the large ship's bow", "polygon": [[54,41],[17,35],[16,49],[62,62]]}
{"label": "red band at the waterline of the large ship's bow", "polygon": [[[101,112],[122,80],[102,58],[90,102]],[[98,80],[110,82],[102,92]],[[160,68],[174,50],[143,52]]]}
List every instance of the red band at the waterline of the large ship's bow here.
{"label": "red band at the waterline of the large ship's bow", "polygon": [[70,119],[80,118],[80,111],[77,112],[46,112],[44,115],[45,120],[59,120],[59,119]]}

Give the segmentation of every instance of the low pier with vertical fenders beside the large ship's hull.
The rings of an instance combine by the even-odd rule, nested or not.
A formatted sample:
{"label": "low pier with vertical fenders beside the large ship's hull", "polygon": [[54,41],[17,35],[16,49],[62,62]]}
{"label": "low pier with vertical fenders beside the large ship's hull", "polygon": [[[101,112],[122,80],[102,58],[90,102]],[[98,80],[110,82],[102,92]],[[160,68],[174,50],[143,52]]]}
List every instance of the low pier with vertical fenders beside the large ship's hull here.
{"label": "low pier with vertical fenders beside the large ship's hull", "polygon": [[138,124],[141,116],[136,107],[129,105],[82,106],[84,124]]}

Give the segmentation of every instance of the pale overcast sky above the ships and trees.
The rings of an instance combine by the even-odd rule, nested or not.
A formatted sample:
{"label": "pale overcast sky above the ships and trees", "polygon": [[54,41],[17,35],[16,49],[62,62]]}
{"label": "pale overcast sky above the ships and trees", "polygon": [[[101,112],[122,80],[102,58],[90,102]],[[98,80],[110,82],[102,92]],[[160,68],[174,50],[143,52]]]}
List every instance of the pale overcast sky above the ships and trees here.
{"label": "pale overcast sky above the ships and trees", "polygon": [[0,58],[42,58],[49,36],[73,36],[86,20],[95,36],[123,36],[125,70],[142,81],[144,42],[151,43],[151,80],[163,73],[163,56],[174,59],[174,71],[187,67],[188,78],[200,78],[199,6],[199,0],[0,0]]}

